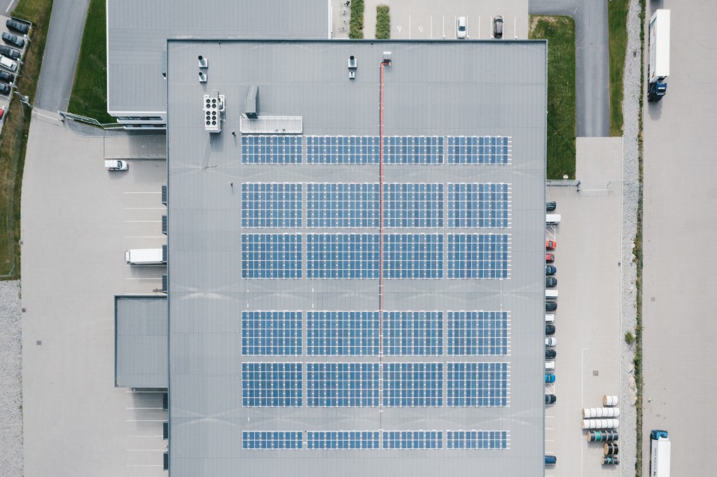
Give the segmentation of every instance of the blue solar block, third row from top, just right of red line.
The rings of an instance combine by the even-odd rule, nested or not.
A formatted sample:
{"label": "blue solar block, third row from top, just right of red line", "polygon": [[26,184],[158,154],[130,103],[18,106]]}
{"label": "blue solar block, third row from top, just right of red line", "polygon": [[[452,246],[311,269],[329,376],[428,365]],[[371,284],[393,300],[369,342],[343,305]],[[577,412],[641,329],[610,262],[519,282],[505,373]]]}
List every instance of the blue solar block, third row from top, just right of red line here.
{"label": "blue solar block, third row from top, just right of red line", "polygon": [[438,233],[384,235],[384,278],[443,278],[443,236]]}

